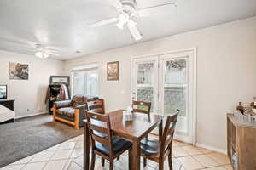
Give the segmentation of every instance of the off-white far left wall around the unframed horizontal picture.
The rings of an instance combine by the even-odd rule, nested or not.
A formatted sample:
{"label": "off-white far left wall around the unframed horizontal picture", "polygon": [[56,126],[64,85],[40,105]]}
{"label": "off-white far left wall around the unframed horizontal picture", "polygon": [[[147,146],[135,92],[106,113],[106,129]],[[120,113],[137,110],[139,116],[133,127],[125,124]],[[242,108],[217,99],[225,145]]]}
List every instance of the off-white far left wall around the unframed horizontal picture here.
{"label": "off-white far left wall around the unframed horizontal picture", "polygon": [[[9,62],[28,64],[29,80],[9,80]],[[49,76],[63,74],[63,66],[63,61],[55,59],[38,59],[34,56],[0,51],[0,84],[7,84],[8,98],[15,99],[16,117],[46,111],[44,99]]]}

